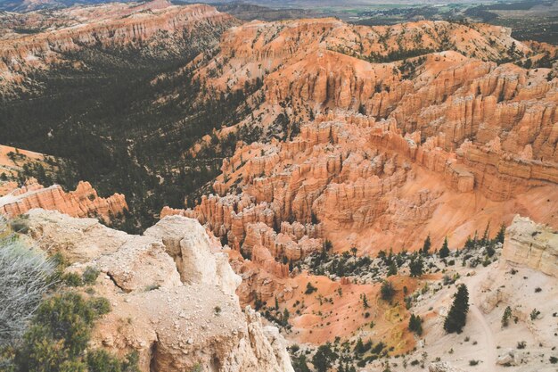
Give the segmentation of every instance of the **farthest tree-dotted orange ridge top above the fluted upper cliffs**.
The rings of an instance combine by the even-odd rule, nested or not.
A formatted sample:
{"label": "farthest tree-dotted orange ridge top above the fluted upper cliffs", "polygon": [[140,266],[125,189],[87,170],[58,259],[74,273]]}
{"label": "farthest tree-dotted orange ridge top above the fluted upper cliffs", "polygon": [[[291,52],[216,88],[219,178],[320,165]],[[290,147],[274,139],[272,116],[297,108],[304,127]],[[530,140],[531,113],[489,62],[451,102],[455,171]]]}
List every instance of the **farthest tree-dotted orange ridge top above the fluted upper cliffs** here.
{"label": "farthest tree-dotted orange ridge top above the fluted upper cliffs", "polygon": [[[486,61],[501,59],[515,43],[518,51],[529,46],[514,40],[511,30],[489,25],[462,25],[447,21],[420,21],[393,26],[354,26],[332,18],[261,22],[252,21],[228,30],[220,52],[209,62],[204,55],[193,65],[201,78],[217,88],[242,87],[245,81],[265,78],[298,62],[332,52],[363,61],[384,62],[421,54],[455,50]],[[414,54],[417,55],[417,54]],[[418,54],[420,55],[420,54]],[[384,68],[387,69],[386,66]],[[391,66],[389,66],[391,68]],[[300,70],[300,75],[306,71]]]}

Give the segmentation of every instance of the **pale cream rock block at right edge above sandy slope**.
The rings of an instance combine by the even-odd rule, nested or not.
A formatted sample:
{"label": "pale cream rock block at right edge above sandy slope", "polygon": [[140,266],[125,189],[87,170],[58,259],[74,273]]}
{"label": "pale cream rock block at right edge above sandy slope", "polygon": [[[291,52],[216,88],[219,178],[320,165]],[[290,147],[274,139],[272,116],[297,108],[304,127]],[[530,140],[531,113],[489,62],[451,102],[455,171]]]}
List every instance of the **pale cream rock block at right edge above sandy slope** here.
{"label": "pale cream rock block at right edge above sandy slope", "polygon": [[558,277],[558,233],[554,229],[517,215],[505,236],[505,260]]}

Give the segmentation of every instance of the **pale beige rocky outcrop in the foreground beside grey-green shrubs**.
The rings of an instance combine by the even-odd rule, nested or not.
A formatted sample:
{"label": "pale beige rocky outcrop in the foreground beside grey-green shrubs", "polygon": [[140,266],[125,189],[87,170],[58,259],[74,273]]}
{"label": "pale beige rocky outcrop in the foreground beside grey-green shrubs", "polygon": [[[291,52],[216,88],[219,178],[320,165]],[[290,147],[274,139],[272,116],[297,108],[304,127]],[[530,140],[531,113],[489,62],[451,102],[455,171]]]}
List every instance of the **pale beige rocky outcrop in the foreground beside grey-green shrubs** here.
{"label": "pale beige rocky outcrop in the foreground beside grey-green shrubs", "polygon": [[94,347],[138,351],[142,371],[293,371],[277,329],[250,308],[242,312],[240,277],[224,253],[211,252],[197,221],[169,217],[129,236],[94,219],[33,210],[29,225],[39,246],[54,244],[74,262],[70,269],[105,274],[94,291],[112,310],[94,328]]}

